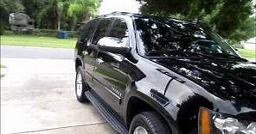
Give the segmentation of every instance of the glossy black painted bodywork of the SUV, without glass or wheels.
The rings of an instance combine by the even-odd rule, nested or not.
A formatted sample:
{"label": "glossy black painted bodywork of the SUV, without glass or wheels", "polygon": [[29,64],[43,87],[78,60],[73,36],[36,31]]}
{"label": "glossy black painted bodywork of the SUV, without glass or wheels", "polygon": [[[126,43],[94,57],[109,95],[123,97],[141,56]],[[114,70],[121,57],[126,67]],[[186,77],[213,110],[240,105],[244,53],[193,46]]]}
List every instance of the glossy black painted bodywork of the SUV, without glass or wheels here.
{"label": "glossy black painted bodywork of the SUV, without glass or wheels", "polygon": [[129,113],[138,110],[129,109],[134,98],[160,113],[174,134],[197,133],[200,107],[256,120],[256,64],[239,58],[146,57],[140,53],[134,17],[148,16],[99,17],[125,20],[131,48],[127,55],[100,50],[91,43],[93,37],[87,46],[79,39],[75,48],[86,82],[127,126]]}

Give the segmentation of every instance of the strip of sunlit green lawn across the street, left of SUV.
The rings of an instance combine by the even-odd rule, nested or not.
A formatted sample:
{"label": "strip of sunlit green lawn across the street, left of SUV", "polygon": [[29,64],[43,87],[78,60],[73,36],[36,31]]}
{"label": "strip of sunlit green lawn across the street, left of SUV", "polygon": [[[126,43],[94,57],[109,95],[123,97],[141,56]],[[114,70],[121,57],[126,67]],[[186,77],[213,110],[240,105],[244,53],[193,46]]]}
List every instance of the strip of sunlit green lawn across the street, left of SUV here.
{"label": "strip of sunlit green lawn across the street, left of SUV", "polygon": [[8,46],[41,46],[54,48],[74,48],[76,39],[58,39],[31,34],[4,34],[1,36],[1,45]]}

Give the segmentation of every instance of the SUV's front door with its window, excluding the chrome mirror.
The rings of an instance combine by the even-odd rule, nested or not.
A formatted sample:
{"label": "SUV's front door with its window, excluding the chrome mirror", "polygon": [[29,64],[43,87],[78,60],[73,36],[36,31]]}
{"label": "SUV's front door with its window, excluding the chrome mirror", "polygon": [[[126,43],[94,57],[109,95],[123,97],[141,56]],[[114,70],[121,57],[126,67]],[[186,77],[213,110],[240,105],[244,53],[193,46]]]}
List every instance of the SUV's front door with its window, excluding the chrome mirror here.
{"label": "SUV's front door with its window, excluding the chrome mirror", "polygon": [[[126,22],[116,19],[110,31],[106,34],[106,37],[118,43],[111,44],[110,42],[104,42],[105,40],[100,40],[100,43],[114,47],[128,46],[128,35],[129,32]],[[125,70],[122,70],[122,67],[120,68],[120,64],[124,64],[125,62],[125,57],[120,54],[98,49],[96,61],[94,78],[98,82],[97,85],[100,89],[99,95],[114,111],[121,114],[123,94],[130,80]]]}

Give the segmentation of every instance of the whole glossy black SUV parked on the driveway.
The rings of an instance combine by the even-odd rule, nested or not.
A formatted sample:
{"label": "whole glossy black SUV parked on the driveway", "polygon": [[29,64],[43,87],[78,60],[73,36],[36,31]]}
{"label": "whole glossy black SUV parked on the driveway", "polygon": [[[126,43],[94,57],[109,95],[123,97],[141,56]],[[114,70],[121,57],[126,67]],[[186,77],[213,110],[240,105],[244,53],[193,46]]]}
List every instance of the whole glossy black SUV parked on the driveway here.
{"label": "whole glossy black SUV parked on the driveway", "polygon": [[75,93],[131,134],[255,134],[256,64],[196,21],[129,13],[80,28]]}

